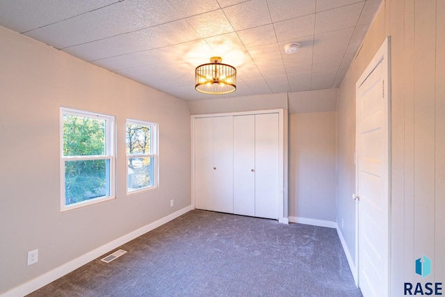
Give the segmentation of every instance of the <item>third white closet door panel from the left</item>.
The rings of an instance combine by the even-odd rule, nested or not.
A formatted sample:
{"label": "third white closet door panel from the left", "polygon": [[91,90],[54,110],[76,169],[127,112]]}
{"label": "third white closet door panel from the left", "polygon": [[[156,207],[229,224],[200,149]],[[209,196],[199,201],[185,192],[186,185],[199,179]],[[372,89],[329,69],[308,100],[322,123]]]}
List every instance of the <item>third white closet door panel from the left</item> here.
{"label": "third white closet door panel from the left", "polygon": [[234,116],[234,214],[255,215],[255,115]]}

